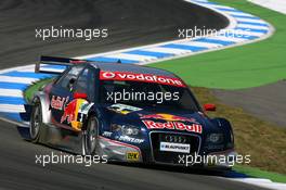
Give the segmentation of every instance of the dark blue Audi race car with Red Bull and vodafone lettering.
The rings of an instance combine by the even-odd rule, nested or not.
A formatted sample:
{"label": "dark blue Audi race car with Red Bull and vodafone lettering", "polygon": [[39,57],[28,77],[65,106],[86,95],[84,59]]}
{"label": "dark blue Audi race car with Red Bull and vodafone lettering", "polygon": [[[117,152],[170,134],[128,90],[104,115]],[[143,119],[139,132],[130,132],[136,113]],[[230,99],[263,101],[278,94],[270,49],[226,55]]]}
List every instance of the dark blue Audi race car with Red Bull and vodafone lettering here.
{"label": "dark blue Audi race car with Red Bull and vodafone lettering", "polygon": [[[58,74],[44,71],[44,65],[66,69]],[[26,106],[32,142],[151,164],[182,165],[187,155],[235,154],[230,122],[208,117],[206,111],[216,106],[202,109],[185,83],[170,72],[52,56],[42,56],[36,72],[58,75]]]}

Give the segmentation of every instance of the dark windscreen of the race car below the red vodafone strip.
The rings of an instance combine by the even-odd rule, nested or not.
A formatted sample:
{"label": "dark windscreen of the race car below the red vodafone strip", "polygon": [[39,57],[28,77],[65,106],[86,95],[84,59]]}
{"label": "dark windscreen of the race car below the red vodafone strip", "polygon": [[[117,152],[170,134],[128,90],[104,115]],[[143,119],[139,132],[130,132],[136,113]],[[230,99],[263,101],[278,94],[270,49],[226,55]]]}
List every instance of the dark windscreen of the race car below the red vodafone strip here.
{"label": "dark windscreen of the race car below the red vodafone strip", "polygon": [[101,80],[101,103],[123,103],[140,107],[199,111],[185,87],[131,80]]}

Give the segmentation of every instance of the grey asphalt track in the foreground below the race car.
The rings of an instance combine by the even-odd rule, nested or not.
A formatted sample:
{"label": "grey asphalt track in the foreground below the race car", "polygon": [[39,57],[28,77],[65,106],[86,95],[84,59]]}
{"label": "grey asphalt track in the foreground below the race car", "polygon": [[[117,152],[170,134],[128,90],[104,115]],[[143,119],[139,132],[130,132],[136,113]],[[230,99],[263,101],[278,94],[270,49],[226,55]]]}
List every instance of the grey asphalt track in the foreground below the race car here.
{"label": "grey asphalt track in the foreground below the race car", "polygon": [[[4,127],[4,125],[6,125]],[[43,145],[25,142],[16,130],[2,123],[0,156],[0,189],[202,189],[202,190],[258,190],[245,183],[229,181],[180,168],[144,168],[113,164],[48,165],[35,164],[35,154],[55,151]]]}

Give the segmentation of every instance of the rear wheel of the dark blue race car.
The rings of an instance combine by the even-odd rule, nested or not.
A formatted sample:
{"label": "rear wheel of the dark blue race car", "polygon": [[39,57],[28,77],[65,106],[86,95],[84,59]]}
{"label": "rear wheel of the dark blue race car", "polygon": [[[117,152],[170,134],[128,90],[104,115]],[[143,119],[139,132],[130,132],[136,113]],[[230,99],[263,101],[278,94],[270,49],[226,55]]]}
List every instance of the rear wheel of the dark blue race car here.
{"label": "rear wheel of the dark blue race car", "polygon": [[42,127],[42,112],[41,103],[35,102],[31,110],[29,135],[30,141],[37,143],[40,139],[40,132]]}

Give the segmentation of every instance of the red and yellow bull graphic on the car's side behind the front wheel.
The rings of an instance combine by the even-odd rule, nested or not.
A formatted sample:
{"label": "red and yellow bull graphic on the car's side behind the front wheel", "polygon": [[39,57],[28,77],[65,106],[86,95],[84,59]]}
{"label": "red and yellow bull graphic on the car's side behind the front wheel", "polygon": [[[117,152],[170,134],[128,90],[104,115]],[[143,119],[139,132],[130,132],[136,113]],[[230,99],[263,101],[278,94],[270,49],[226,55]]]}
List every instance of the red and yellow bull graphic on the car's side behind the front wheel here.
{"label": "red and yellow bull graphic on the car's side behind the front wheel", "polygon": [[82,122],[88,115],[89,109],[93,103],[89,103],[84,99],[75,99],[64,107],[64,114],[61,117],[61,123],[66,122],[72,125],[75,130],[81,130]]}

